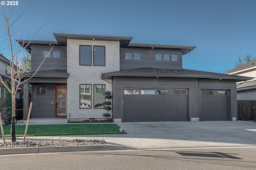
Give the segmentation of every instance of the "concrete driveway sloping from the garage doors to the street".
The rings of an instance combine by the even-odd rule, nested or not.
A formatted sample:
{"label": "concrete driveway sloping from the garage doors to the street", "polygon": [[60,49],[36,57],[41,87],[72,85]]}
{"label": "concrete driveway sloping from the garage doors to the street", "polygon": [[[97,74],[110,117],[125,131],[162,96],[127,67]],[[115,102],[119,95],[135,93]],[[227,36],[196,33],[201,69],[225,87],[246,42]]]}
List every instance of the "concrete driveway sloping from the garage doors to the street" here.
{"label": "concrete driveway sloping from the garage doors to the street", "polygon": [[256,146],[256,122],[116,123],[127,135],[104,135],[106,142],[134,148]]}

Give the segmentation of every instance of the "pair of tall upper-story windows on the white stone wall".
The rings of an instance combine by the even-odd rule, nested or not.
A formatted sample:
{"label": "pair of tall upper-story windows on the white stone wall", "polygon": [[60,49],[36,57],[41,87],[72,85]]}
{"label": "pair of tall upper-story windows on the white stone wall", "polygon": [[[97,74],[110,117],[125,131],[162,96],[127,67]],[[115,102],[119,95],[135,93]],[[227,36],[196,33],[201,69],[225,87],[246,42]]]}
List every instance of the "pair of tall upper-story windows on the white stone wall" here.
{"label": "pair of tall upper-story windows on the white stone wall", "polygon": [[[92,46],[80,45],[80,65],[92,65]],[[105,47],[93,46],[93,65],[105,66]]]}

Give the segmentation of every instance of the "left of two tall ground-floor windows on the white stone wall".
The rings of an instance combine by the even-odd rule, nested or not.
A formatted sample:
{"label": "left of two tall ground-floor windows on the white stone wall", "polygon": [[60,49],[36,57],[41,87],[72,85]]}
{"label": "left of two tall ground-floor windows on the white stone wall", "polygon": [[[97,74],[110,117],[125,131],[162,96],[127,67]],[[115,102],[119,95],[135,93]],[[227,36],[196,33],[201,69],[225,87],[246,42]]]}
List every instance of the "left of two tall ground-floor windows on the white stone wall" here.
{"label": "left of two tall ground-floor windows on the white stone wall", "polygon": [[91,87],[90,84],[80,84],[80,108],[91,108]]}

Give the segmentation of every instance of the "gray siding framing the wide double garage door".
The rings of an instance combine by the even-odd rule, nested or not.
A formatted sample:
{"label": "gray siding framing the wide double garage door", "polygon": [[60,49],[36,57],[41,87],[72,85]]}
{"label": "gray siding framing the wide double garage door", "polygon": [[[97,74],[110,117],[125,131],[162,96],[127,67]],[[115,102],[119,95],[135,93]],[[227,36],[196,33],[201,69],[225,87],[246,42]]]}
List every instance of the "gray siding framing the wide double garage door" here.
{"label": "gray siding framing the wide double garage door", "polygon": [[196,117],[195,78],[114,78],[113,79],[113,118],[123,119],[123,88],[186,88],[188,89],[188,114]]}

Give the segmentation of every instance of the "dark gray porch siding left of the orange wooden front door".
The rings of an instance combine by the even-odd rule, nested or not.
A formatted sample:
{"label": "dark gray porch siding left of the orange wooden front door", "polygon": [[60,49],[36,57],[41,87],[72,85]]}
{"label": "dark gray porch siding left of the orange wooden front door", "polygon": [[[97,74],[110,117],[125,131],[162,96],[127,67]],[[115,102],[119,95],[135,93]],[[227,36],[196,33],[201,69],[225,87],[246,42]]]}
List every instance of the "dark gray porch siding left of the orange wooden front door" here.
{"label": "dark gray porch siding left of the orange wooden front door", "polygon": [[[36,85],[46,85],[46,94],[36,94]],[[66,84],[33,84],[32,118],[56,117],[56,86],[66,86]]]}

